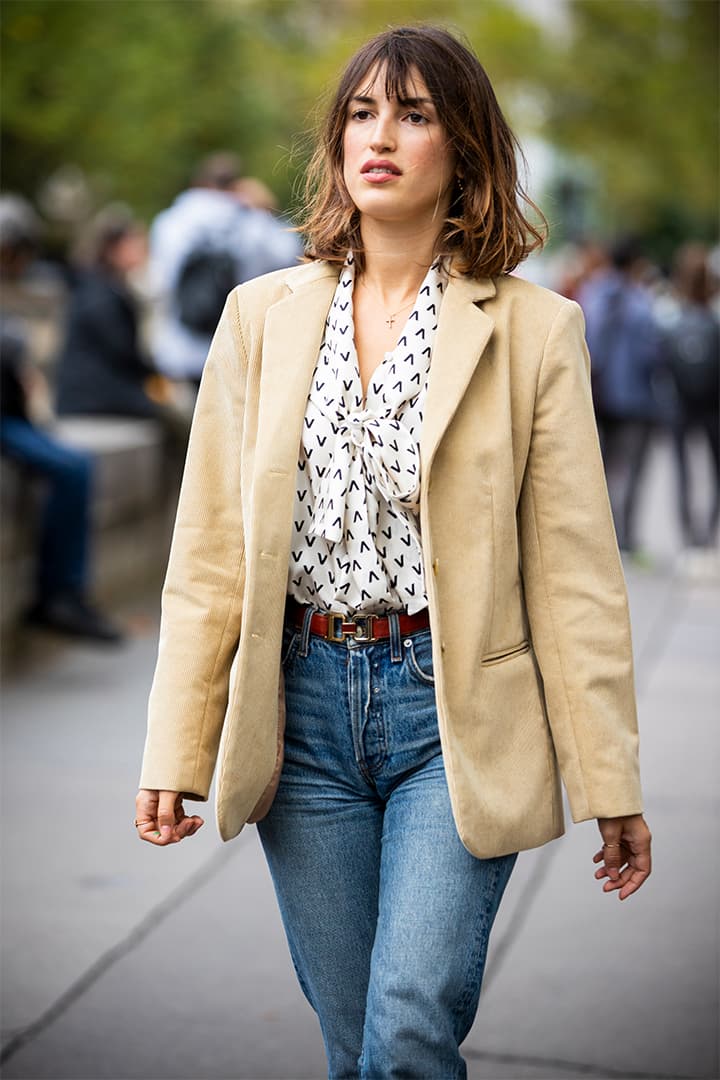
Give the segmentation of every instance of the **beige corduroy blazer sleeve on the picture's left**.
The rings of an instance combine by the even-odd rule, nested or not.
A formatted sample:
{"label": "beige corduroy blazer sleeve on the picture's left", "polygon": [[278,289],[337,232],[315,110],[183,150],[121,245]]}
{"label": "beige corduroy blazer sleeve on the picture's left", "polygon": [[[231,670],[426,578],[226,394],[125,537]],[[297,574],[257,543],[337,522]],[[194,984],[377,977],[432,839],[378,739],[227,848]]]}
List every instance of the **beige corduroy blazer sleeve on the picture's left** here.
{"label": "beige corduroy blazer sleeve on the picture's left", "polygon": [[206,799],[245,578],[241,446],[247,361],[231,293],[203,370],[162,594],[140,786]]}

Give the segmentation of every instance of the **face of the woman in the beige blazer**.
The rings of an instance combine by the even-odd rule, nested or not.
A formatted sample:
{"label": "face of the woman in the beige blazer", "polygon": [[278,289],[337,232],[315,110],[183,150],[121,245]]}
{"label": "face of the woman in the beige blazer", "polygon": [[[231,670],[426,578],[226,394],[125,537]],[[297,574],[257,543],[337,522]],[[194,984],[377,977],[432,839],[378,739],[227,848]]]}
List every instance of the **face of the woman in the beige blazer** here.
{"label": "face of the woman in the beige blazer", "polygon": [[418,72],[407,92],[407,99],[388,97],[382,68],[356,89],[345,117],[343,177],[361,215],[418,227],[435,221],[439,229],[454,153]]}

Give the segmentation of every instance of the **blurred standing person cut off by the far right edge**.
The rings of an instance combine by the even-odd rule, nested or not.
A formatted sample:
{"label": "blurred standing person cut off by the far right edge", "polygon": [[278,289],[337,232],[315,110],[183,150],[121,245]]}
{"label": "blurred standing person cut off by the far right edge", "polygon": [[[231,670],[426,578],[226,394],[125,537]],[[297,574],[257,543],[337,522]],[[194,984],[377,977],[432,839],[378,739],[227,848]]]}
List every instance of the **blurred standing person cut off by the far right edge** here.
{"label": "blurred standing person cut off by the far right edge", "polygon": [[[677,252],[673,284],[676,303],[666,314],[663,335],[677,404],[678,509],[685,543],[704,548],[716,541],[720,519],[720,322],[711,306],[717,281],[705,247],[688,244]],[[712,470],[707,498],[697,500],[704,503],[704,522],[693,510],[689,443],[695,433],[707,444]]]}

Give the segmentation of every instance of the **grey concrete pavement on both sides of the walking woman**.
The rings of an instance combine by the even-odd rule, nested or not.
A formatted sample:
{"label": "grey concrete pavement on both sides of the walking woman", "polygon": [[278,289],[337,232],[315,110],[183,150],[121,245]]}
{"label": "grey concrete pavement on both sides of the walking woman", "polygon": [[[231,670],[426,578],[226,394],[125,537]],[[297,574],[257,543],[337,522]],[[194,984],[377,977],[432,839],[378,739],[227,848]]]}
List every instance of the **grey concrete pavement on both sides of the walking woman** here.
{"label": "grey concrete pavement on both sides of the walking woman", "polygon": [[[621,904],[593,823],[518,860],[465,1042],[471,1080],[718,1069],[720,585],[628,568],[655,870]],[[157,619],[3,691],[6,1078],[325,1076],[256,831],[212,807],[158,851],[132,821]]]}

